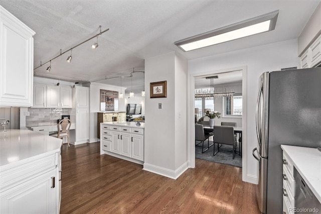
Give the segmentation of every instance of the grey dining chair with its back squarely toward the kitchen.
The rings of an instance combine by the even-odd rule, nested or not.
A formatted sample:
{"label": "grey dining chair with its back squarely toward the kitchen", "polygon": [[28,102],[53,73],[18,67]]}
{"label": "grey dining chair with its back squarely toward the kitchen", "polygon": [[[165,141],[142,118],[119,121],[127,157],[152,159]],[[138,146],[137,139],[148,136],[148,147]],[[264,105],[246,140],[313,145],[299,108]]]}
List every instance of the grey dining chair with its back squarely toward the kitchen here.
{"label": "grey dining chair with its back squarely toward the kitchen", "polygon": [[[235,137],[234,128],[229,126],[214,126],[214,144],[217,143],[217,150],[220,151],[219,144],[233,145],[233,159],[235,157]],[[215,155],[215,149],[213,155]]]}

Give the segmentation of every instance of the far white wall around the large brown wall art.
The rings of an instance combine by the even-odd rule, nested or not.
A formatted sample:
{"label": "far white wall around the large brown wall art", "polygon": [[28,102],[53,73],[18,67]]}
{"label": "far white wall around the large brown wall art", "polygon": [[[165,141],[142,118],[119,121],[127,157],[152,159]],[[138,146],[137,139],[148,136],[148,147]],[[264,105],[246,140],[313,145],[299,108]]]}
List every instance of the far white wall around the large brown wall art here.
{"label": "far white wall around the large brown wall art", "polygon": [[[90,87],[89,142],[92,143],[96,142],[98,139],[97,112],[100,112],[100,89],[118,91],[119,94],[120,86],[118,87],[114,85],[107,85],[96,82],[86,84],[85,86]],[[126,88],[122,87],[121,89],[121,92],[125,93]],[[118,112],[126,112],[124,98],[118,99]]]}

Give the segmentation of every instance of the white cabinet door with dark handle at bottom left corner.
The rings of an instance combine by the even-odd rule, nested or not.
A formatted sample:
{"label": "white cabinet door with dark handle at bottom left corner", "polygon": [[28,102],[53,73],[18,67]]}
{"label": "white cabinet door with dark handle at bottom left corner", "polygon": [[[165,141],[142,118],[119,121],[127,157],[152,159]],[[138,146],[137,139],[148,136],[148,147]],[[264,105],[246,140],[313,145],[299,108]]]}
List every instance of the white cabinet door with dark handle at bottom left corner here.
{"label": "white cabinet door with dark handle at bottom left corner", "polygon": [[56,169],[2,192],[1,213],[58,213],[55,176]]}

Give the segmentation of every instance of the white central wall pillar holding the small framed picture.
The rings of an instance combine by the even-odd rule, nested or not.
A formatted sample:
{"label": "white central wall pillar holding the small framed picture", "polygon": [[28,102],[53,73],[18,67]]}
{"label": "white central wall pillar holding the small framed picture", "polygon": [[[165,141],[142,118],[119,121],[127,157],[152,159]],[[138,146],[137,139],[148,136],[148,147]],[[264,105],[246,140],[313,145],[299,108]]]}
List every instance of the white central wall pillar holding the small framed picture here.
{"label": "white central wall pillar holding the small framed picture", "polygon": [[175,52],[145,59],[145,85],[165,80],[167,97],[145,91],[144,170],[177,178],[188,162],[187,61]]}

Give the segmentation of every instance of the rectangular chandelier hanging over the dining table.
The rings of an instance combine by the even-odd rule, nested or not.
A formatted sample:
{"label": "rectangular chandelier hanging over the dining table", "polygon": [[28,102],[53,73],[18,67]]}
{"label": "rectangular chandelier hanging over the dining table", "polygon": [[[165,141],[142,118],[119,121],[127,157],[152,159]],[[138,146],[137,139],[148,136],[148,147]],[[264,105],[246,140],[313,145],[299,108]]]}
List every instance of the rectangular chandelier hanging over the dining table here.
{"label": "rectangular chandelier hanging over the dining table", "polygon": [[224,88],[222,90],[214,90],[214,79],[219,78],[218,76],[207,76],[206,79],[211,80],[210,89],[195,89],[195,98],[211,98],[211,97],[221,97],[221,96],[233,96],[233,89]]}

